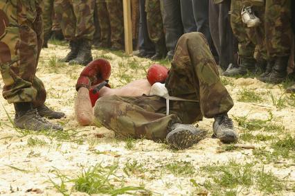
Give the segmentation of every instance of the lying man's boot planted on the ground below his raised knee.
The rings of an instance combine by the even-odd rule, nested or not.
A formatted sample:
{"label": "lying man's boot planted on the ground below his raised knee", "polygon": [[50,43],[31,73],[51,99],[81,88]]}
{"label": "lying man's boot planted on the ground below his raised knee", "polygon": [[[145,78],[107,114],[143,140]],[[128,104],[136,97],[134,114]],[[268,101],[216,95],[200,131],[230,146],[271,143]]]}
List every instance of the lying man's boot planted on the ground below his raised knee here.
{"label": "lying man's boot planted on the ground below his raised knee", "polygon": [[227,114],[220,114],[214,117],[213,138],[220,139],[223,143],[238,141],[238,134],[233,127],[233,121]]}

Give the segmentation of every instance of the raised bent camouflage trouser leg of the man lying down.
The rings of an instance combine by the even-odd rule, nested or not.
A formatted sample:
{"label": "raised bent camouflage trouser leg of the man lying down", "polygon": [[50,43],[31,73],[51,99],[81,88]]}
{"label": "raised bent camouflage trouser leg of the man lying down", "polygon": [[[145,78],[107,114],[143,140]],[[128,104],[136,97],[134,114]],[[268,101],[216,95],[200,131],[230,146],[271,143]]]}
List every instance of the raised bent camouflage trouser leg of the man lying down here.
{"label": "raised bent camouflage trouser leg of the man lying down", "polygon": [[[224,114],[233,100],[223,86],[206,38],[202,33],[181,36],[171,63],[166,87],[170,96],[199,100],[199,111],[206,118]],[[194,114],[198,115],[198,108]]]}

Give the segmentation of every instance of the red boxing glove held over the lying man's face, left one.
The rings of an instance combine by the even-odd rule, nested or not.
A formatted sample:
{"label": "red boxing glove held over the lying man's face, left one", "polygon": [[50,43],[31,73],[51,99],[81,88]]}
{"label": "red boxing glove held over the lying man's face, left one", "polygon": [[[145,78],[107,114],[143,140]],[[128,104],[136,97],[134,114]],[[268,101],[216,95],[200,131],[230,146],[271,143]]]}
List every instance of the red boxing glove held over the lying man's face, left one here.
{"label": "red boxing glove held over the lying man's face, left one", "polygon": [[91,86],[107,80],[109,75],[111,75],[111,64],[107,60],[102,58],[93,60],[80,73],[75,89],[77,91],[80,87],[90,89]]}

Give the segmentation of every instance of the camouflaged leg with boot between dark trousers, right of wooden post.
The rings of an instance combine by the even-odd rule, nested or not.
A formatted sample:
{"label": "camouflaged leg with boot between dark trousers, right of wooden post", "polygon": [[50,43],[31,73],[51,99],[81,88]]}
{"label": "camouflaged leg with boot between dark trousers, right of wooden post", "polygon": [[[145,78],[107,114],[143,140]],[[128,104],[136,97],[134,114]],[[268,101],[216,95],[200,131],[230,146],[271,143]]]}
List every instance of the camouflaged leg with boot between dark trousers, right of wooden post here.
{"label": "camouflaged leg with boot between dark trousers, right of wooden post", "polygon": [[146,0],[145,12],[147,13],[147,31],[156,48],[156,54],[151,57],[151,60],[160,60],[166,57],[167,53],[160,1]]}

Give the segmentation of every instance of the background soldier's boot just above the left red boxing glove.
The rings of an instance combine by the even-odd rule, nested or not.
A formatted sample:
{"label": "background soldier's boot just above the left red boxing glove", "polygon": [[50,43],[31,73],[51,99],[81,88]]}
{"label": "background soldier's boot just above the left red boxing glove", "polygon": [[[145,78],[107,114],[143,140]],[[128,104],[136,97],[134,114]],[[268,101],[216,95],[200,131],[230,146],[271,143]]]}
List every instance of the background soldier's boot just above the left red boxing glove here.
{"label": "background soldier's boot just above the left red boxing glove", "polygon": [[71,60],[69,64],[82,64],[86,66],[92,60],[91,42],[87,39],[82,39],[77,57]]}

